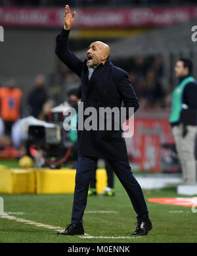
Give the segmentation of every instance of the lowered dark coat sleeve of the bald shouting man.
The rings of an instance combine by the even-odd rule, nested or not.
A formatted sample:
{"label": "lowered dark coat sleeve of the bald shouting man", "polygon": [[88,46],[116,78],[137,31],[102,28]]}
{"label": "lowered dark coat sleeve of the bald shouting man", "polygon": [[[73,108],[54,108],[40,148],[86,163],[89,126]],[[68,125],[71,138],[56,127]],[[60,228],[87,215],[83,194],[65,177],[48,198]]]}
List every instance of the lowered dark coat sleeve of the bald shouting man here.
{"label": "lowered dark coat sleeve of the bald shouting man", "polygon": [[[129,119],[135,111],[139,108],[139,99],[133,90],[133,86],[131,85],[131,81],[129,80],[129,76],[127,72],[123,71],[121,74],[120,81],[118,83],[118,91],[123,100],[123,107],[126,108],[126,119]],[[133,111],[129,113],[129,108],[133,107]]]}

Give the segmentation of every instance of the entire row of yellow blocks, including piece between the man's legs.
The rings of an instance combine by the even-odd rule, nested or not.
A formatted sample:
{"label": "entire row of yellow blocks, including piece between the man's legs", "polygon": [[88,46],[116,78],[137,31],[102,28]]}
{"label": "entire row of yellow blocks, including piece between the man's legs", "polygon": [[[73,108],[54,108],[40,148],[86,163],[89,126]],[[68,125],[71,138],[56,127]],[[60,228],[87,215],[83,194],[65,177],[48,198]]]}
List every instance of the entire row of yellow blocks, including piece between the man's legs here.
{"label": "entire row of yellow blocks, including piece between the man's legs", "polygon": [[[105,169],[97,169],[97,193],[106,187]],[[73,169],[0,169],[0,193],[74,193]]]}

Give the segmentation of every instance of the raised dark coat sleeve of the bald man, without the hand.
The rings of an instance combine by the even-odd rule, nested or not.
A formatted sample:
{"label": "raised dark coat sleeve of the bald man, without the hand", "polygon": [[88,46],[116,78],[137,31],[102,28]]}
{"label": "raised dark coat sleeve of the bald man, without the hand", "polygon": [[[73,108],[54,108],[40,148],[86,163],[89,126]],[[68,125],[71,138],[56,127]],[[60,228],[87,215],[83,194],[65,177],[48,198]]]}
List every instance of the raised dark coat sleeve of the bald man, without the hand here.
{"label": "raised dark coat sleeve of the bald man, without the hand", "polygon": [[55,53],[68,68],[75,72],[77,76],[81,77],[83,61],[70,51],[68,46],[69,34],[70,30],[64,30],[63,28],[61,34],[56,37]]}

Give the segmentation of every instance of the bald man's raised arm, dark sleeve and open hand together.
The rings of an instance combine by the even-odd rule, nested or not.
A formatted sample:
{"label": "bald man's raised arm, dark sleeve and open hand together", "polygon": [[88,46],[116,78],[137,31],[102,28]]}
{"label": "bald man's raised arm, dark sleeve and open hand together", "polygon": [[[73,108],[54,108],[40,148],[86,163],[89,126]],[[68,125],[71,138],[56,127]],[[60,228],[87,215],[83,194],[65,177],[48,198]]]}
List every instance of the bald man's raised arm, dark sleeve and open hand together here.
{"label": "bald man's raised arm, dark sleeve and open hand together", "polygon": [[81,61],[74,53],[72,53],[68,47],[68,36],[70,29],[74,24],[76,12],[70,13],[70,8],[66,5],[64,16],[64,29],[61,34],[56,37],[56,49],[55,53],[60,60],[68,66],[79,77],[81,76],[81,70],[83,68],[83,61]]}

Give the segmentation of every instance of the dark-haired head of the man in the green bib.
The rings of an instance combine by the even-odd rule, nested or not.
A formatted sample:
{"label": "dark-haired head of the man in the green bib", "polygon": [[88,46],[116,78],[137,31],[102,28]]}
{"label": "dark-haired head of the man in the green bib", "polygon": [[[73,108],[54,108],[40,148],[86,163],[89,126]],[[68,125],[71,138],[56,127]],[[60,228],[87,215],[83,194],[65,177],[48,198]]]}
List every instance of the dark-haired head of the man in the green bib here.
{"label": "dark-haired head of the man in the green bib", "polygon": [[182,78],[192,74],[193,64],[190,59],[179,59],[175,65],[175,75],[177,78]]}

